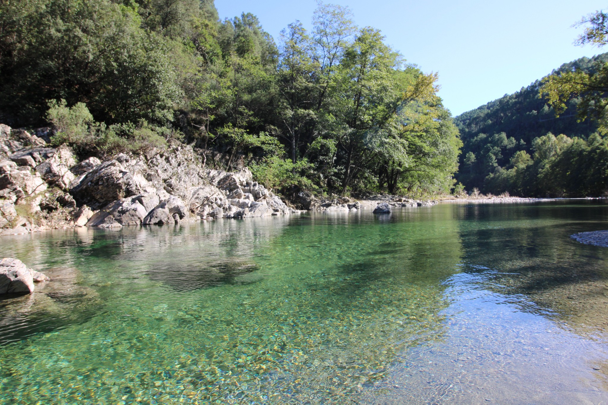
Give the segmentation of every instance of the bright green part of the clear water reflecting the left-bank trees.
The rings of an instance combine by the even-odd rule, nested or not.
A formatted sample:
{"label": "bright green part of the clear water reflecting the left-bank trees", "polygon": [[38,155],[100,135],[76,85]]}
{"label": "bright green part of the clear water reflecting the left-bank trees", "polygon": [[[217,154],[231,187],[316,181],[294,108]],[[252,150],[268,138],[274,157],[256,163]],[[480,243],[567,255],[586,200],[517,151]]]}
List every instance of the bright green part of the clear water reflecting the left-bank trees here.
{"label": "bright green part of the clear water reflecting the left-bank trees", "polygon": [[[0,353],[15,364],[3,393],[14,395],[18,383],[15,403],[50,402],[57,400],[50,387],[61,381],[62,398],[104,403],[351,403],[408,347],[441,338],[448,302],[440,282],[460,260],[455,223],[359,225],[326,216],[279,230],[241,224],[209,233],[122,231],[120,249],[103,242],[111,234],[95,236],[90,245],[105,251],[88,251],[86,277],[112,282],[102,293],[103,316],[47,335],[40,345],[52,356]],[[199,269],[255,262],[240,277],[257,274],[258,282],[176,293],[151,280],[151,271],[194,260]],[[69,363],[57,364],[58,355]]]}

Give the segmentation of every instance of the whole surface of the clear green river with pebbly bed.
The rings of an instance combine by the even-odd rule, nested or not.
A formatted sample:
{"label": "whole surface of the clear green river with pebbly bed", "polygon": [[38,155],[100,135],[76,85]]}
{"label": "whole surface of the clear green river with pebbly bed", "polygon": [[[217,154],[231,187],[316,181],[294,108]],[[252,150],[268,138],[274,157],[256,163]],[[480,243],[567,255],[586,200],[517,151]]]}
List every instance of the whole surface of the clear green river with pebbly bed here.
{"label": "whole surface of the clear green river with pebbly bed", "polygon": [[582,201],[3,237],[53,280],[0,301],[0,403],[606,403],[608,248],[569,238],[601,229]]}

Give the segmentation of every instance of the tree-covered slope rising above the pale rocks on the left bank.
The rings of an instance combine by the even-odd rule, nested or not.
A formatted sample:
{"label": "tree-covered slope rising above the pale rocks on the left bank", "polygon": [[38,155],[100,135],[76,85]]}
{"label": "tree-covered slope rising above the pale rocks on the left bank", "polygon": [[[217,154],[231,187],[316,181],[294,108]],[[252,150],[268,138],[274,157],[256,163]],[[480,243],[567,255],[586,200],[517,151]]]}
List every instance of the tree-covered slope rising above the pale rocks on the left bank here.
{"label": "tree-covered slope rising above the pale rocks on the left bank", "polygon": [[52,124],[81,157],[195,143],[284,193],[449,191],[436,80],[337,5],[272,38],[212,0],[0,3],[1,122]]}

